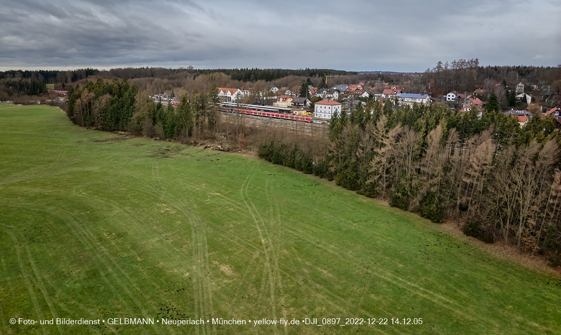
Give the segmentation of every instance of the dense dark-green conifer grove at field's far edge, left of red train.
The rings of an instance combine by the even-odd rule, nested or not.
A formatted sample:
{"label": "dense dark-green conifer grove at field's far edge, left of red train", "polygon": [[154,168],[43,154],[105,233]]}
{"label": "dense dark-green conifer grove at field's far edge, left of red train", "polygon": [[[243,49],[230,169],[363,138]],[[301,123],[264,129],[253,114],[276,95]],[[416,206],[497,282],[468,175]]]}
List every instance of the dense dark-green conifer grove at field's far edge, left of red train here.
{"label": "dense dark-green conifer grove at field's far edge, left of red train", "polygon": [[77,125],[108,132],[185,140],[202,132],[220,132],[217,102],[218,89],[214,86],[210,93],[195,89],[183,94],[177,108],[171,103],[164,108],[162,102],[139,93],[126,78],[122,82],[98,79],[69,87],[67,115]]}

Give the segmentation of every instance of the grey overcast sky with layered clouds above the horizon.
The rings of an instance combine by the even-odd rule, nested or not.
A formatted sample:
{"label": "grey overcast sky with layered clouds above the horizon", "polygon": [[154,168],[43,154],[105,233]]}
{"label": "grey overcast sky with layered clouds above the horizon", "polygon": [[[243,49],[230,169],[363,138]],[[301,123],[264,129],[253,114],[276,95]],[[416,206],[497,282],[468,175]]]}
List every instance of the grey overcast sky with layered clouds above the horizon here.
{"label": "grey overcast sky with layered clouds above the horizon", "polygon": [[0,70],[561,64],[559,0],[0,0]]}

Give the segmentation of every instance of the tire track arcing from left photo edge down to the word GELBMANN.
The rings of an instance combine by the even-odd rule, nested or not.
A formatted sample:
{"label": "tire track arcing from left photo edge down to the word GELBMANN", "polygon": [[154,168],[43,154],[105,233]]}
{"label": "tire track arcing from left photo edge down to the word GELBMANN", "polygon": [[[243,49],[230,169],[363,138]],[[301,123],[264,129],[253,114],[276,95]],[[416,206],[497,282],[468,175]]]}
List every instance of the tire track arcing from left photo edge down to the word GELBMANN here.
{"label": "tire track arcing from left photo edge down to the word GELBMANN", "polygon": [[[74,219],[75,217],[70,212],[57,209],[56,207],[52,207],[52,206],[36,205],[31,203],[11,203],[6,201],[0,201],[0,203],[4,203],[7,206],[20,207],[29,210],[42,210],[48,212],[49,214],[54,214],[59,218],[61,218],[66,224],[66,226],[70,229],[72,236],[76,237],[79,240],[82,247],[84,247],[85,251],[88,251],[92,255],[94,255],[93,259],[95,260],[95,264],[94,264],[95,268],[98,270],[104,282],[109,286],[109,288],[113,292],[113,295],[116,296],[119,299],[119,301],[122,302],[128,315],[135,315],[135,313],[132,312],[132,309],[128,306],[126,300],[114,288],[113,284],[109,281],[109,279],[105,275],[109,274],[113,278],[114,282],[116,282],[116,284],[120,286],[123,289],[123,291],[127,293],[127,295],[129,295],[131,300],[135,302],[139,308],[141,307],[141,305],[138,303],[136,298],[131,295],[130,291],[128,291],[126,286],[122,283],[121,279],[117,277],[111,266],[107,264],[107,260],[104,260],[103,256],[100,255],[100,253],[97,251],[97,248],[95,247],[95,242],[88,241],[88,237],[86,236],[86,234],[80,233],[80,225],[76,222],[76,220]],[[82,224],[82,229],[86,229],[84,227],[85,225]],[[145,318],[147,317],[148,316],[145,315]],[[153,328],[156,331],[155,326]],[[146,333],[145,329],[142,329],[142,333]]]}

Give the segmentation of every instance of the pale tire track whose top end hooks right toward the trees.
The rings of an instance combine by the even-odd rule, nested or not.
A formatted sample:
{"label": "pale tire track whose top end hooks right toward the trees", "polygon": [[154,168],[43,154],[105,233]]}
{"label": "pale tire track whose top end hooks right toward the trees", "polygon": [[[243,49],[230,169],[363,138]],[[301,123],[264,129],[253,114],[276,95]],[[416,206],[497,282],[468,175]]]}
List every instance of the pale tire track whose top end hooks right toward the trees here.
{"label": "pale tire track whose top end hooks right toward the trees", "polygon": [[[254,167],[253,171],[250,172],[249,175],[247,175],[246,179],[244,180],[242,187],[240,189],[240,195],[241,198],[243,200],[243,202],[245,203],[247,210],[250,212],[252,219],[254,220],[255,223],[255,227],[257,228],[257,232],[259,233],[259,238],[261,240],[261,246],[263,247],[263,252],[265,253],[265,267],[264,267],[264,277],[265,277],[265,271],[266,274],[268,274],[268,278],[269,278],[269,287],[270,287],[270,299],[271,299],[271,308],[272,308],[272,313],[273,313],[273,319],[276,320],[277,319],[277,304],[275,302],[275,283],[277,282],[277,280],[275,280],[275,277],[273,276],[273,269],[272,266],[270,264],[270,255],[269,255],[269,248],[272,247],[271,246],[271,242],[270,238],[268,237],[266,240],[263,237],[263,233],[261,232],[261,224],[263,224],[263,230],[266,233],[266,227],[265,224],[263,222],[263,219],[261,218],[261,216],[259,215],[259,211],[257,211],[254,203],[251,201],[250,197],[249,197],[249,193],[247,192],[247,189],[249,188],[249,184],[251,183],[251,180],[253,179],[253,177],[255,176],[255,173],[257,171],[257,166]],[[245,189],[245,196],[244,196],[244,189]],[[251,210],[251,207],[249,205],[249,203],[251,203],[251,207],[253,207],[253,210]],[[257,220],[256,216],[259,217],[259,220]],[[261,224],[259,223],[259,221],[261,221]],[[268,233],[266,233],[266,235],[268,235]],[[265,242],[268,241],[269,242],[269,247],[266,246]],[[262,282],[263,283],[263,282]],[[263,287],[263,284],[262,284]],[[277,325],[272,325],[272,328],[274,329],[275,332],[277,332]]]}

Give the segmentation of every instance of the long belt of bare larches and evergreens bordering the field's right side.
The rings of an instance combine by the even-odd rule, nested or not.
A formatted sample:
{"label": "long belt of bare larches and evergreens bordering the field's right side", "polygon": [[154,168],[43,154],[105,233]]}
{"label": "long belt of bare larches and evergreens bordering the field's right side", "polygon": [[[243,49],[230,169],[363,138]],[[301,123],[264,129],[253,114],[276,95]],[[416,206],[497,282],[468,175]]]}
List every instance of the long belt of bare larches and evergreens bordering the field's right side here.
{"label": "long belt of bare larches and evergreens bordering the field's right side", "polygon": [[328,137],[323,152],[276,140],[259,155],[435,223],[463,222],[466,234],[487,242],[561,246],[559,132],[550,117],[519,128],[494,109],[478,117],[369,102],[334,115]]}

